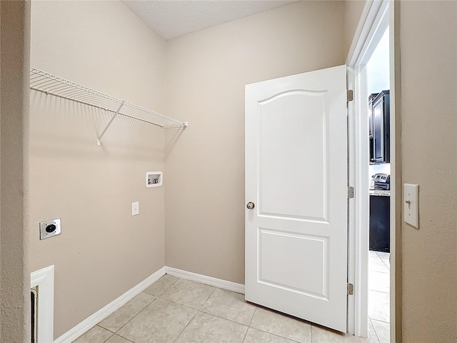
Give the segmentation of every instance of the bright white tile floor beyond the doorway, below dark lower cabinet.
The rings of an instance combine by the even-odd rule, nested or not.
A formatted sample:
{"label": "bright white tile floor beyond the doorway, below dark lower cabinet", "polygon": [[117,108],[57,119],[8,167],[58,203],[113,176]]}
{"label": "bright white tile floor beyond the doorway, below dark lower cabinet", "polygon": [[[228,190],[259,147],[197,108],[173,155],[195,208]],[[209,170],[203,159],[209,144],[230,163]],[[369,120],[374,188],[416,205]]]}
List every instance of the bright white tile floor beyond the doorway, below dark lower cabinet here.
{"label": "bright white tile floor beyond the doorway, below dark lower cabinet", "polygon": [[390,342],[390,264],[387,252],[368,255],[368,317],[379,343]]}

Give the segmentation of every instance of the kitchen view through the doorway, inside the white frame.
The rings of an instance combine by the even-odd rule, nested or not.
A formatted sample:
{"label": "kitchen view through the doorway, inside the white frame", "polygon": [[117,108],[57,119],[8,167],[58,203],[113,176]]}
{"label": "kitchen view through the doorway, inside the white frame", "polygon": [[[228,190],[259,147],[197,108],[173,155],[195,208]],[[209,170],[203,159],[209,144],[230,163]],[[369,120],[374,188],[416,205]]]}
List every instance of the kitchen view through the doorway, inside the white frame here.
{"label": "kitchen view through the doorway, inside the white frame", "polygon": [[368,325],[390,342],[390,74],[388,27],[366,64],[368,99]]}

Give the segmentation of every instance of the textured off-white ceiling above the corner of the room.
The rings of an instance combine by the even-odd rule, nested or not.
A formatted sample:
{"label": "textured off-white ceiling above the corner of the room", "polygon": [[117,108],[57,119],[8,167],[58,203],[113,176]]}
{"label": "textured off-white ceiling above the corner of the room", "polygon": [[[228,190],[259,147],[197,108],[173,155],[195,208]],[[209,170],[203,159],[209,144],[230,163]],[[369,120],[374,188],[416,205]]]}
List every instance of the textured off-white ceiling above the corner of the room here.
{"label": "textured off-white ceiling above the corner of the room", "polygon": [[171,39],[295,1],[124,0],[122,2],[162,38]]}

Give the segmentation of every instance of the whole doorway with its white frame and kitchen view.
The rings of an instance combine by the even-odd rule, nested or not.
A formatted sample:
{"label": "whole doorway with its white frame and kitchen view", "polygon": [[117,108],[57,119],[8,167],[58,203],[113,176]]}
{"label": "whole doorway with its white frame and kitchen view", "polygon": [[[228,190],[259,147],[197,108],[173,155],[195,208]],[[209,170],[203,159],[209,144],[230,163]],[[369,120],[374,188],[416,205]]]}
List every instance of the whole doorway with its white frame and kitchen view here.
{"label": "whole doorway with its white frame and kitchen view", "polygon": [[[348,282],[355,290],[348,302],[348,332],[376,334],[382,343],[396,337],[393,6],[387,0],[366,2],[346,59],[348,89],[354,91],[348,103],[348,161],[355,189],[349,210]],[[370,230],[376,220],[378,227]]]}

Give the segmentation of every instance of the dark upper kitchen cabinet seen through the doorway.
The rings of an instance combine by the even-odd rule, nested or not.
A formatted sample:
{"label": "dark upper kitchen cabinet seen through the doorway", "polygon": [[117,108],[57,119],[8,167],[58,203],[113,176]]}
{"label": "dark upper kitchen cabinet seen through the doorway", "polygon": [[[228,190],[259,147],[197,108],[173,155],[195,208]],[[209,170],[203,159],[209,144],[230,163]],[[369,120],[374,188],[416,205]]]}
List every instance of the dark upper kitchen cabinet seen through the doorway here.
{"label": "dark upper kitchen cabinet seen through the doorway", "polygon": [[388,163],[390,158],[390,100],[389,91],[371,94],[370,109],[370,163]]}

